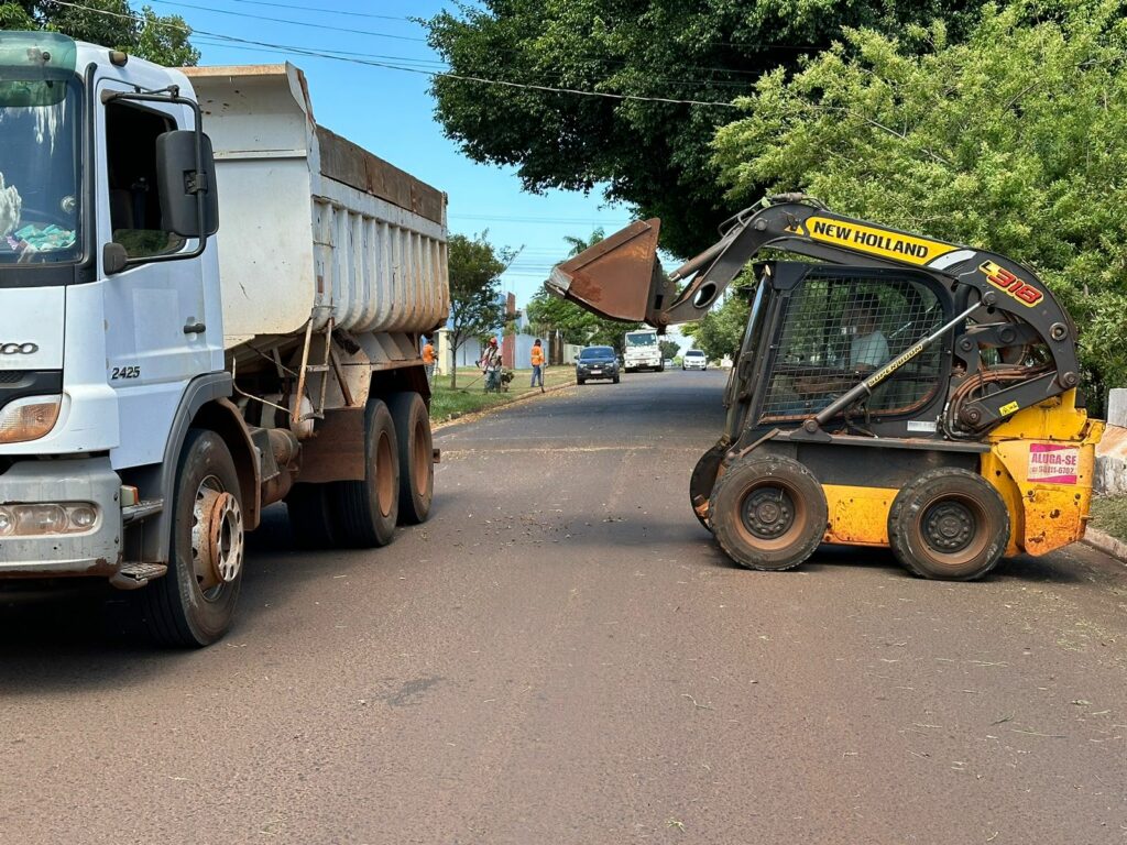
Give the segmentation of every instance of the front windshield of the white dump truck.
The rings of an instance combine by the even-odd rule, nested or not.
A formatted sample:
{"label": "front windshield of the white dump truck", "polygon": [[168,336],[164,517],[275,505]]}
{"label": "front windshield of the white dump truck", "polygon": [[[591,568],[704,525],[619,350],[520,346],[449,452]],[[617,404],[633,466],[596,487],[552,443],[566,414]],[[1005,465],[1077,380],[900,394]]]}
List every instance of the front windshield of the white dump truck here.
{"label": "front windshield of the white dump truck", "polygon": [[80,109],[77,80],[0,68],[0,266],[78,259]]}

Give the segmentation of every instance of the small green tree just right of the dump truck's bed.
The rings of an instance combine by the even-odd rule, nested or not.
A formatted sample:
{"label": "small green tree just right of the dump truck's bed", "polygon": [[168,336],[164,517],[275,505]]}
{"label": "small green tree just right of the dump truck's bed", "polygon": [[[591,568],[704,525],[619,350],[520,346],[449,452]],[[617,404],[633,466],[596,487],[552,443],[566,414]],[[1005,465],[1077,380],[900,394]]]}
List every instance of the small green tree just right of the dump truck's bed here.
{"label": "small green tree just right of the dump truck's bed", "polygon": [[450,266],[450,345],[455,362],[450,386],[458,386],[458,350],[470,338],[496,331],[505,320],[500,274],[513,260],[513,251],[486,240],[452,234],[446,244]]}

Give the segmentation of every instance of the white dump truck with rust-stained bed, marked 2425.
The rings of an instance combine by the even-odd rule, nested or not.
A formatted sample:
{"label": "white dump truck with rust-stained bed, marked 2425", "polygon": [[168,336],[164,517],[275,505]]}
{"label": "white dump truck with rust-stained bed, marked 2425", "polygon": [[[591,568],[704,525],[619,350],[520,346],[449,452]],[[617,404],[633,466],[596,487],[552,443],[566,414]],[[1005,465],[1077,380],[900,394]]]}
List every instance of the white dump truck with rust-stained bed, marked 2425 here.
{"label": "white dump truck with rust-stained bed, marked 2425", "polygon": [[381,546],[434,486],[419,335],[446,197],[318,126],[290,64],[0,32],[0,578],[229,628],[243,535]]}

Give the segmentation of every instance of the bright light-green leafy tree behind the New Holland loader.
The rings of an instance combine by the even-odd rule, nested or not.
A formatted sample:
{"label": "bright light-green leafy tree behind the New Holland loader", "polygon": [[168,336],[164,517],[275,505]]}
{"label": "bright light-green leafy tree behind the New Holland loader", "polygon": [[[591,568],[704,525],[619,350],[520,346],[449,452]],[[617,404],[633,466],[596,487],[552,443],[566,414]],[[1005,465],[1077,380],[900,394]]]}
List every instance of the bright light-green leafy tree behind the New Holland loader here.
{"label": "bright light-green leafy tree behind the New Holland loader", "polygon": [[[1081,329],[1095,406],[1127,384],[1127,27],[1119,2],[987,8],[944,29],[870,30],[774,72],[716,137],[729,197],[801,188],[835,211],[1031,266]],[[1053,7],[1058,9],[1059,7]],[[920,51],[926,45],[926,51]]]}

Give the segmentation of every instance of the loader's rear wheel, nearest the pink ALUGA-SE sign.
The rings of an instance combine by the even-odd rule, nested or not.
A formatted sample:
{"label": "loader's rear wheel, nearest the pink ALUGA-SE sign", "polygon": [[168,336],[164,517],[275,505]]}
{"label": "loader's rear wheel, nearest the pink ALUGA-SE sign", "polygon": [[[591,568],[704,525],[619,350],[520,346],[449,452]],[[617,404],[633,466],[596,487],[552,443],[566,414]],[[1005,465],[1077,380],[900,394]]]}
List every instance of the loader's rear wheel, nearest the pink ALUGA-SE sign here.
{"label": "loader's rear wheel, nearest the pink ALUGA-SE sign", "polygon": [[897,560],[915,575],[969,581],[997,564],[1010,542],[1010,514],[980,475],[931,470],[893,500],[888,540]]}

